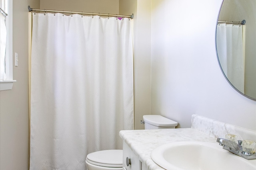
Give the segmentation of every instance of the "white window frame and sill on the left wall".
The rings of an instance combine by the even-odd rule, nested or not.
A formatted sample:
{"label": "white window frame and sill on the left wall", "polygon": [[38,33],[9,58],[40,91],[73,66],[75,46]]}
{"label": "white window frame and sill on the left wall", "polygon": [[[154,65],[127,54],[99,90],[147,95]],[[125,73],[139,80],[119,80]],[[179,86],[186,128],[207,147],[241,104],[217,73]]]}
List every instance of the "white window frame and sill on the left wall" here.
{"label": "white window frame and sill on the left wall", "polygon": [[[8,0],[8,16],[6,16],[6,80],[0,80],[0,90],[11,90],[16,80],[13,80],[13,62],[12,62],[12,0]],[[1,14],[2,15],[2,14]]]}

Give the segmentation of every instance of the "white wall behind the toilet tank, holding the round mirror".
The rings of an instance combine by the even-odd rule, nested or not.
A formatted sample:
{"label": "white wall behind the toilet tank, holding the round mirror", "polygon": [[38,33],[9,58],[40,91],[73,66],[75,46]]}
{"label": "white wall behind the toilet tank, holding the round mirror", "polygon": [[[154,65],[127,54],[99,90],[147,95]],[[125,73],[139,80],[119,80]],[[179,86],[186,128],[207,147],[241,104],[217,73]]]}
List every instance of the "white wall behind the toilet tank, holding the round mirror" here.
{"label": "white wall behind the toilet tank, holding the round mirror", "polygon": [[152,0],[151,114],[190,127],[192,114],[256,130],[256,101],[224,78],[215,51],[222,0]]}

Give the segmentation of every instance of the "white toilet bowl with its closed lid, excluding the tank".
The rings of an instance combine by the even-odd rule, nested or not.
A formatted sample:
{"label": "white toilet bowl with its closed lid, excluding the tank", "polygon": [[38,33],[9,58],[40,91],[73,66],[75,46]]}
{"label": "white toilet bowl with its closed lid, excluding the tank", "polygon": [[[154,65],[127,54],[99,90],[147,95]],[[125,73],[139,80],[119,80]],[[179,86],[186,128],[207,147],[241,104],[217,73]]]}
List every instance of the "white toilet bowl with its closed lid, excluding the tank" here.
{"label": "white toilet bowl with its closed lid, excluding the tank", "polygon": [[122,170],[123,150],[100,150],[86,157],[88,170]]}

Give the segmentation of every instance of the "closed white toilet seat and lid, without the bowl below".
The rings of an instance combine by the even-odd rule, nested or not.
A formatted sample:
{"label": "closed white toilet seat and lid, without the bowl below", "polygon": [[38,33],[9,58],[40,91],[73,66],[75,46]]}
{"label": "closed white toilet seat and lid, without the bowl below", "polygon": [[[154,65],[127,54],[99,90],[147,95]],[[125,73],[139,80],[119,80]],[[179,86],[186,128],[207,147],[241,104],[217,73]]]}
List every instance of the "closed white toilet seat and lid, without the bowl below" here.
{"label": "closed white toilet seat and lid, without the bowl below", "polygon": [[87,155],[86,161],[90,164],[122,168],[123,166],[123,150],[100,150]]}

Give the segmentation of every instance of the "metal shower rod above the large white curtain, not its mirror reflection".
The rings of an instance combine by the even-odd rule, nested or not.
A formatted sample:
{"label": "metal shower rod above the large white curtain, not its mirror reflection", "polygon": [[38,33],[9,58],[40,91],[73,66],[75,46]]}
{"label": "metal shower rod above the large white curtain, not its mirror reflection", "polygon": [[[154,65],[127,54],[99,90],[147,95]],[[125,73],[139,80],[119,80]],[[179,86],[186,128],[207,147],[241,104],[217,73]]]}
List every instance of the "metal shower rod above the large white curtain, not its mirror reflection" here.
{"label": "metal shower rod above the large white curtain, not its mirror reflection", "polygon": [[67,13],[67,14],[82,14],[82,15],[98,15],[98,16],[107,16],[107,17],[122,17],[122,18],[133,18],[133,14],[131,16],[126,15],[117,15],[117,14],[100,14],[100,13],[91,13],[91,12],[73,12],[73,11],[58,11],[58,10],[40,10],[40,9],[33,9],[28,6],[29,12],[53,12],[53,13]]}

